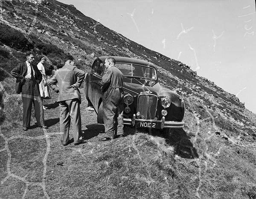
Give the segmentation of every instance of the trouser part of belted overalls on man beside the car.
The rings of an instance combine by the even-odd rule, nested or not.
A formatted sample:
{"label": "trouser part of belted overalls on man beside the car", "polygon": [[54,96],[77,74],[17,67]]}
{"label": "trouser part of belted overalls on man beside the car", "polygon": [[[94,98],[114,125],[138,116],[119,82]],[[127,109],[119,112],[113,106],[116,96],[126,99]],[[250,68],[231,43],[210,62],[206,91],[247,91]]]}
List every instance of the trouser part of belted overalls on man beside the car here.
{"label": "trouser part of belted overalls on man beside the car", "polygon": [[124,134],[124,98],[121,88],[109,88],[103,95],[103,122],[105,137]]}

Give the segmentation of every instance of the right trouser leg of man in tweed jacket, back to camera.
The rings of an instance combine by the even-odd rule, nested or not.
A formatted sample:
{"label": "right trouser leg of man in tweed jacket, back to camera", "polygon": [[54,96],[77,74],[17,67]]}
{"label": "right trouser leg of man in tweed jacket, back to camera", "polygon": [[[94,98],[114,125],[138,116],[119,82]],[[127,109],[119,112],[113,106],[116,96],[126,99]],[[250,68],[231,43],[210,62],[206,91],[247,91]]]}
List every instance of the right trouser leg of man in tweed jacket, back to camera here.
{"label": "right trouser leg of man in tweed jacket, back to camera", "polygon": [[69,106],[69,114],[73,127],[74,144],[79,142],[81,137],[81,114],[80,114],[80,103],[78,99],[72,99],[66,101]]}

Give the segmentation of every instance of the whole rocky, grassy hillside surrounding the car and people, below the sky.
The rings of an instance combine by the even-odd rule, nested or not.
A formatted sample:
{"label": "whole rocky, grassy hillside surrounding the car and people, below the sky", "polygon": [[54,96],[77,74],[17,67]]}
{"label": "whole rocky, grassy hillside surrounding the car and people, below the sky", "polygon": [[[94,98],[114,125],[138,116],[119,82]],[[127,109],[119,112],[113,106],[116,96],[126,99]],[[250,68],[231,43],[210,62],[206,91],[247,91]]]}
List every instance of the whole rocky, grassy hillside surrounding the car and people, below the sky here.
{"label": "whole rocky, grassy hillside surrounding the car and people, below the sky", "polygon": [[[55,0],[0,6],[1,198],[256,198],[256,115],[236,96],[73,6]],[[67,54],[84,71],[102,55],[150,61],[162,86],[183,97],[185,127],[165,136],[125,128],[125,138],[102,143],[102,126],[93,125],[96,115],[84,110],[82,94],[88,144],[61,146],[56,95],[46,102],[49,130],[34,125],[21,132],[22,100],[10,71],[31,50],[36,62],[47,57],[49,76]]]}

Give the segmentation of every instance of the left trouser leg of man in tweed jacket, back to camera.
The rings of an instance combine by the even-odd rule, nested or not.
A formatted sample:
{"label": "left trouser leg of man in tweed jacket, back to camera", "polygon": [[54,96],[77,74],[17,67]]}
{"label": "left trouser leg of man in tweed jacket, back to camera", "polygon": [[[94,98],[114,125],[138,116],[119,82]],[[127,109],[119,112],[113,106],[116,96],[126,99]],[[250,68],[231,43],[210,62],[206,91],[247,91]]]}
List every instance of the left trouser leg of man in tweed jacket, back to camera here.
{"label": "left trouser leg of man in tweed jacket, back to camera", "polygon": [[63,145],[68,144],[69,139],[69,129],[70,129],[70,115],[69,108],[65,101],[59,102],[60,106],[60,131],[61,133],[61,143]]}

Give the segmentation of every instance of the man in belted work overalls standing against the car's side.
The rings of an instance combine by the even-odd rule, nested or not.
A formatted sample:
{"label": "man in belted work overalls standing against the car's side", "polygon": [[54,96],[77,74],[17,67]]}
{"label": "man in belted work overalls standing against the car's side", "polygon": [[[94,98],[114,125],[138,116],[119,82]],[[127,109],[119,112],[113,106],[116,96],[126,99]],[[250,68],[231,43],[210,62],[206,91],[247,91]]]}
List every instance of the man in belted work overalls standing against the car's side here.
{"label": "man in belted work overalls standing against the car's side", "polygon": [[103,122],[105,125],[105,136],[101,141],[111,140],[115,136],[120,138],[124,136],[124,92],[122,72],[116,68],[116,60],[108,57],[105,60],[106,71],[102,77],[101,89],[103,95]]}

